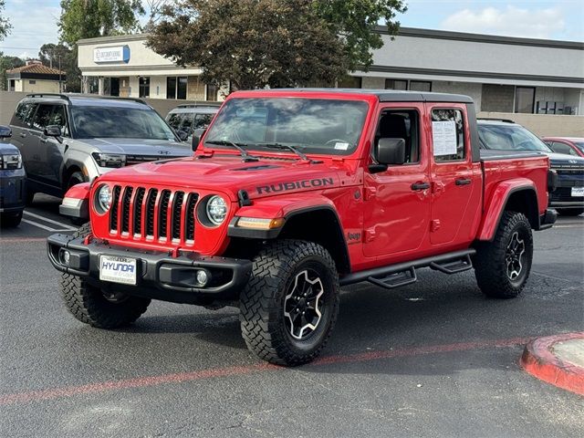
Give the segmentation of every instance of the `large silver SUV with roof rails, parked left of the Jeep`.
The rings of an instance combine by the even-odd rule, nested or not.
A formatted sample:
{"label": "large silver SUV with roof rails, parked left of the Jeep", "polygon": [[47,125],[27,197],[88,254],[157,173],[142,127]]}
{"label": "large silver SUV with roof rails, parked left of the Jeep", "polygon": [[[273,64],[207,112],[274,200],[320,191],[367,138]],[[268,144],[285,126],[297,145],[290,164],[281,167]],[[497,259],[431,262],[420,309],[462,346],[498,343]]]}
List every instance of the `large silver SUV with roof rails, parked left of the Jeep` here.
{"label": "large silver SUV with roof rails, parked left of the Jeep", "polygon": [[28,203],[35,193],[61,197],[111,169],[193,153],[186,136],[179,138],[141,99],[30,94],[10,126],[26,168]]}

